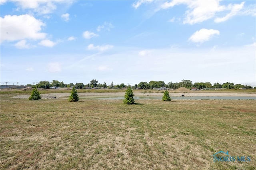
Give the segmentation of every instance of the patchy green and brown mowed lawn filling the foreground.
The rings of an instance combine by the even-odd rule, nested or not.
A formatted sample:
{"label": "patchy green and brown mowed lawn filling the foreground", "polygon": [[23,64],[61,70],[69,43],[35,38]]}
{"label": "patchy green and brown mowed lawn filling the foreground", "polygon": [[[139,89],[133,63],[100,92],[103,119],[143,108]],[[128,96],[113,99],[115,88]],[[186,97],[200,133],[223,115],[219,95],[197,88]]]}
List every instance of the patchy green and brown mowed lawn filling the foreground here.
{"label": "patchy green and brown mowed lawn filling the foreground", "polygon": [[[256,167],[256,101],[66,99],[1,95],[0,169]],[[220,150],[250,162],[213,162]],[[220,156],[226,156],[220,154]]]}

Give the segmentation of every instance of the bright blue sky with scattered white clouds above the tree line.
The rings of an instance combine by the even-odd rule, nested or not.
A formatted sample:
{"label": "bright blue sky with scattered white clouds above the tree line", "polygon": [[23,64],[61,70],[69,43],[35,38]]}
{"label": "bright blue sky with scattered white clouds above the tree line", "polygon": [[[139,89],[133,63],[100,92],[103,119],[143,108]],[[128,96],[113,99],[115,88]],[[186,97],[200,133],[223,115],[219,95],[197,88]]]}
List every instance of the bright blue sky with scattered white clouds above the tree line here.
{"label": "bright blue sky with scattered white clouds above the tree line", "polygon": [[0,83],[256,86],[254,0],[1,0]]}

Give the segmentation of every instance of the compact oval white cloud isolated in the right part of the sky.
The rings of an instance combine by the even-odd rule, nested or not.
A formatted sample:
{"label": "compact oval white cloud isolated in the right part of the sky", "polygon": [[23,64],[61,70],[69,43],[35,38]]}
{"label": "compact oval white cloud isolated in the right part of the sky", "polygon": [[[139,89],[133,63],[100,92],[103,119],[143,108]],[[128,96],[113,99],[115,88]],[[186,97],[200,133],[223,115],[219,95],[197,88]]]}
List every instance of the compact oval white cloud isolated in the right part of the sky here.
{"label": "compact oval white cloud isolated in the right part of the sky", "polygon": [[210,40],[214,35],[220,35],[220,32],[218,30],[202,28],[201,30],[196,31],[188,40],[194,43],[203,43]]}

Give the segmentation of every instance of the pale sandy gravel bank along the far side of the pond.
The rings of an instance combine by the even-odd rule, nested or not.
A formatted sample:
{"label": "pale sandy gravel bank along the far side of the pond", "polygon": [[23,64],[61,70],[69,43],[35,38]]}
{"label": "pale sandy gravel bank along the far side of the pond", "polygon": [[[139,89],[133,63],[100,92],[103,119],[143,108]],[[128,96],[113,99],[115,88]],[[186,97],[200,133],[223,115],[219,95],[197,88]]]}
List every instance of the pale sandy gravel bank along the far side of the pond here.
{"label": "pale sandy gravel bank along the far side of the pond", "polygon": [[[115,92],[115,93],[78,93],[78,96],[123,96],[124,92]],[[135,92],[134,96],[162,96],[163,93],[141,93]],[[246,96],[246,97],[256,97],[256,94],[249,93],[170,93],[170,96],[182,96],[185,97],[195,97],[195,96]],[[70,93],[48,93],[42,94],[42,99],[59,99],[63,97],[70,96]],[[12,98],[16,99],[28,99],[30,95],[17,95]]]}

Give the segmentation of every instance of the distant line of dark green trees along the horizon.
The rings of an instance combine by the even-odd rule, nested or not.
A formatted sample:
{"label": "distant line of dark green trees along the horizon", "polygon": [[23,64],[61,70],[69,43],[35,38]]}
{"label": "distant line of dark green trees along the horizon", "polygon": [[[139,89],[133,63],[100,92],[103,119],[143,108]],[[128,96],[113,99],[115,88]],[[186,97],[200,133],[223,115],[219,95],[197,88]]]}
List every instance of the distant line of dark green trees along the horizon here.
{"label": "distant line of dark green trees along the horizon", "polygon": [[[104,83],[98,83],[98,81],[96,79],[92,79],[92,81],[90,81],[90,83],[84,84],[84,83],[70,83],[70,84],[65,84],[58,80],[52,80],[52,82],[50,81],[39,81],[38,83],[36,83],[35,85],[31,85],[31,84],[27,84],[27,86],[32,86],[32,87],[36,87],[36,88],[43,88],[43,89],[50,89],[51,87],[75,87],[76,89],[86,89],[86,87],[98,87],[98,88],[120,88],[122,89],[123,87],[127,87],[127,85],[125,85],[124,83],[120,84],[120,85],[114,85],[114,83],[112,82],[110,85],[107,85],[106,82]],[[230,82],[226,82],[223,84],[220,83],[214,83],[212,85],[212,83],[210,82],[196,82],[196,83],[192,83],[192,81],[190,80],[182,80],[179,83],[164,83],[164,81],[150,81],[150,82],[143,82],[141,81],[140,83],[135,84],[133,86],[131,86],[132,89],[154,89],[154,88],[160,88],[160,87],[166,87],[166,88],[170,88],[170,89],[178,89],[180,87],[186,87],[187,89],[191,89],[192,87],[195,87],[197,89],[204,89],[204,88],[214,88],[214,89],[239,89],[239,88],[246,88],[246,89],[252,89],[253,87],[250,85],[241,85],[241,84],[236,84],[234,85],[234,83],[230,83]],[[256,87],[254,87],[256,88]]]}

